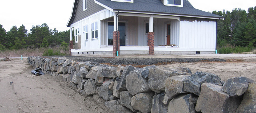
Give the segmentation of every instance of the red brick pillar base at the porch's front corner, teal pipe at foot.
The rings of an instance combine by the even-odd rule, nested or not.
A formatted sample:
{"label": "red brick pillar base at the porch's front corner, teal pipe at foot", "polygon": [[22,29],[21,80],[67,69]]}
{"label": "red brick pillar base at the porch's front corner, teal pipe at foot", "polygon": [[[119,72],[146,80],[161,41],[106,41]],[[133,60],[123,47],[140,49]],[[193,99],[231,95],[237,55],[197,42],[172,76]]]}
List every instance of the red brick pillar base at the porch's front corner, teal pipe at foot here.
{"label": "red brick pillar base at the porch's front corner, teal pipe at foot", "polygon": [[[117,38],[118,38],[118,41],[117,41]],[[113,57],[117,56],[117,51],[119,55],[120,54],[120,32],[113,31]]]}

